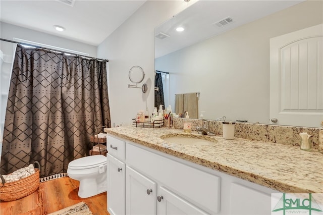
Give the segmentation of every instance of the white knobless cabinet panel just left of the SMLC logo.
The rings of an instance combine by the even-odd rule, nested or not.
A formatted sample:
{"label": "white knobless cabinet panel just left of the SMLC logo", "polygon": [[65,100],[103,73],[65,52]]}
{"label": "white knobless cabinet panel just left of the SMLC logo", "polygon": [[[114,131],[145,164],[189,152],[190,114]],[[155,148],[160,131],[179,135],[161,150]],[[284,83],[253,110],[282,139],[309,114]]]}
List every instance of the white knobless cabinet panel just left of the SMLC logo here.
{"label": "white knobless cabinet panel just left of the SMLC logo", "polygon": [[230,214],[270,215],[271,195],[231,183]]}

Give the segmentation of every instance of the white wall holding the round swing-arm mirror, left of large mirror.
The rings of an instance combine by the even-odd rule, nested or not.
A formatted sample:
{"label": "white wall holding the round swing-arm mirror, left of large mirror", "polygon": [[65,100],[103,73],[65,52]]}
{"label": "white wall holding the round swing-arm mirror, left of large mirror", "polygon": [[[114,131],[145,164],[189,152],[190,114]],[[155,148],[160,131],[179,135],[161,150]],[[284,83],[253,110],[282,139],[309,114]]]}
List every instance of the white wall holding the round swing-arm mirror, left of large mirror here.
{"label": "white wall holding the round swing-arm mirror, left of large mirror", "polygon": [[[97,57],[109,59],[108,89],[112,126],[130,125],[138,110],[154,106],[154,28],[195,1],[147,1],[99,46]],[[145,72],[148,91],[128,88],[132,66]]]}

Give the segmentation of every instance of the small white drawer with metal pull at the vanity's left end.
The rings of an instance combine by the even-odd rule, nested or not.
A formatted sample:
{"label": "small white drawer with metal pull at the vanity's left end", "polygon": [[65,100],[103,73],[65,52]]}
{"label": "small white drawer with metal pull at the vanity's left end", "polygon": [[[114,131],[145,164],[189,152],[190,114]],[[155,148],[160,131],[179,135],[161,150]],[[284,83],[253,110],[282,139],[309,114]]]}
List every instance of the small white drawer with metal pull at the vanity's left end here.
{"label": "small white drawer with metal pull at the vanity's left end", "polygon": [[110,135],[106,136],[106,141],[106,150],[108,153],[121,160],[125,160],[126,142]]}

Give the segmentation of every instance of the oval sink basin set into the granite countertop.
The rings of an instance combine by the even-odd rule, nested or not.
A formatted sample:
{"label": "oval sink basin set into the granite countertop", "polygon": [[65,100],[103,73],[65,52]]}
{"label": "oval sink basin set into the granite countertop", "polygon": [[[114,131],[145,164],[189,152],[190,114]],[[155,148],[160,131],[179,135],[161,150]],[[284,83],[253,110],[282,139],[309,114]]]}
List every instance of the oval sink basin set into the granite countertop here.
{"label": "oval sink basin set into the granite countertop", "polygon": [[164,136],[161,136],[160,138],[170,143],[176,143],[180,145],[202,146],[202,145],[211,145],[217,142],[216,139],[207,138],[205,136],[183,135],[183,134],[164,135]]}

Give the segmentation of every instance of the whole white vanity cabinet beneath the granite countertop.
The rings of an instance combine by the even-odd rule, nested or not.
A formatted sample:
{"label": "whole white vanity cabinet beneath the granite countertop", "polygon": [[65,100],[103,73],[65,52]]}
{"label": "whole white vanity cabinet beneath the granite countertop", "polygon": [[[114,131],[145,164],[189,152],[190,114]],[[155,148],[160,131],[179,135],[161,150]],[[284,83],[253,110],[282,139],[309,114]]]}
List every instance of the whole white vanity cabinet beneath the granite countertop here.
{"label": "whole white vanity cabinet beneath the granite countertop", "polygon": [[107,141],[125,150],[107,156],[111,214],[271,214],[278,191],[110,134]]}

